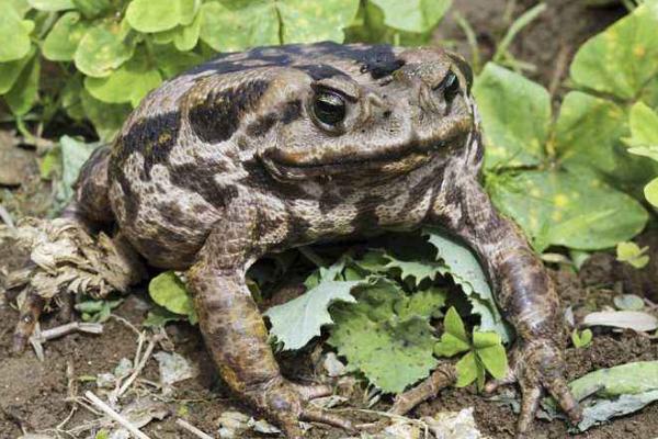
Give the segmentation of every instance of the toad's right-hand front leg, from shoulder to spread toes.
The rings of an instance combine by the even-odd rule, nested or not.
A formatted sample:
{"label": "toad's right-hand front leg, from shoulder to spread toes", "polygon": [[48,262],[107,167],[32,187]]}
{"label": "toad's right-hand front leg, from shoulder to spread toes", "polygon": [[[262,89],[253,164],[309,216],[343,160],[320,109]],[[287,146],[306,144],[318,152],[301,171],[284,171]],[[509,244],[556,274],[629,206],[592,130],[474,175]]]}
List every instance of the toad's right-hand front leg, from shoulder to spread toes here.
{"label": "toad's right-hand front leg, from shoulder to spread toes", "polygon": [[498,305],[517,330],[509,374],[488,385],[518,381],[523,403],[518,430],[525,434],[546,389],[569,415],[580,417],[580,408],[565,380],[565,337],[559,301],[553,281],[521,230],[502,217],[488,195],[467,175],[444,180],[432,212],[441,224],[473,248],[485,266]]}

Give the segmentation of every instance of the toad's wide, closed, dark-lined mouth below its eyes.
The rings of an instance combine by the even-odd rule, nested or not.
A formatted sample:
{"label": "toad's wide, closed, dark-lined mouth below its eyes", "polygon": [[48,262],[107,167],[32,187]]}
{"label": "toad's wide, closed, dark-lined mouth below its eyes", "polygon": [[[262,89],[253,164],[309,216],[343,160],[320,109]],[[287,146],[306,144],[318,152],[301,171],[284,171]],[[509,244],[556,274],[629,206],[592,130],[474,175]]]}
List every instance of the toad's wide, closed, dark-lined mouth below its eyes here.
{"label": "toad's wide, closed, dark-lined mouth below its eyes", "polygon": [[354,151],[307,159],[299,154],[286,153],[279,148],[263,151],[261,160],[265,168],[282,180],[303,180],[314,177],[347,177],[358,179],[362,176],[390,177],[407,173],[432,161],[438,156],[446,156],[452,146],[460,143],[462,136],[440,142],[417,142],[387,150],[368,151],[359,155]]}

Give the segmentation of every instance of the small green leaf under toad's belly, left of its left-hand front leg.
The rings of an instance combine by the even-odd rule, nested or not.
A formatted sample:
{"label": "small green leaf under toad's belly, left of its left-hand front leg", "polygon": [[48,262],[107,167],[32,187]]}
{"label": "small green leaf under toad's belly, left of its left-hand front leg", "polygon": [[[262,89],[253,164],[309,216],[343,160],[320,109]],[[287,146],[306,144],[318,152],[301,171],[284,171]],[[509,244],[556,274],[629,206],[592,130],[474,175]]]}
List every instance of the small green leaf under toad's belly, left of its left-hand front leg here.
{"label": "small green leaf under toad's belly, left of its left-hand front leg", "polygon": [[148,293],[154,302],[167,311],[188,316],[192,324],[198,320],[185,284],[173,271],[166,271],[151,279]]}

